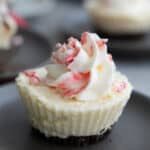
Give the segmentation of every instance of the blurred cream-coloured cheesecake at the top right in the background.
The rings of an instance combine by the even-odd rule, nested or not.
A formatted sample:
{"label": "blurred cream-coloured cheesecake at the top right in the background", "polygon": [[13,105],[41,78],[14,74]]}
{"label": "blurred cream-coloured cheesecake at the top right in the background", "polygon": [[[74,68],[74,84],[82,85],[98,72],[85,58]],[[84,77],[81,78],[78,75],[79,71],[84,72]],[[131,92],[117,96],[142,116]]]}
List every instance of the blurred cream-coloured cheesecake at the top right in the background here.
{"label": "blurred cream-coloured cheesecake at the top right in the background", "polygon": [[141,34],[150,30],[149,0],[86,0],[97,29],[109,34]]}

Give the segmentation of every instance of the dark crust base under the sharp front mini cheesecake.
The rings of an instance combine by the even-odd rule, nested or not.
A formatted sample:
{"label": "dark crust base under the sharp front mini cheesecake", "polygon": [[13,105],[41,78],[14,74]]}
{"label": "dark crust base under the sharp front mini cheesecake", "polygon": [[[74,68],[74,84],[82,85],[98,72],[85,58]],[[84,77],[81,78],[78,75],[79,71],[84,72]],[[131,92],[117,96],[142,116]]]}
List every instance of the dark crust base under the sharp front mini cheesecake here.
{"label": "dark crust base under the sharp front mini cheesecake", "polygon": [[[49,137],[46,138],[44,134],[40,133],[37,129],[32,128],[32,135],[36,136],[36,138],[40,138],[40,140],[46,140],[52,144],[59,145],[73,145],[73,146],[86,146],[90,144],[94,144],[100,142],[108,137],[112,128],[105,131],[105,133],[101,135],[92,135],[92,136],[70,136],[68,138],[62,139],[59,137]],[[100,132],[101,133],[101,132]]]}

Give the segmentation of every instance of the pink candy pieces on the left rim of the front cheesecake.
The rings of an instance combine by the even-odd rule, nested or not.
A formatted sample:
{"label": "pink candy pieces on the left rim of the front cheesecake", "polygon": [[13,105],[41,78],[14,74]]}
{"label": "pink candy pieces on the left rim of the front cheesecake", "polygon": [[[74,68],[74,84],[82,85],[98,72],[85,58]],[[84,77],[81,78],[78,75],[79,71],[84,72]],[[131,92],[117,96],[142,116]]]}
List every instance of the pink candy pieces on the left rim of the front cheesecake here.
{"label": "pink candy pieces on the left rim of the front cheesecake", "polygon": [[29,81],[33,85],[37,85],[40,82],[40,78],[37,76],[36,72],[32,70],[25,70],[24,74],[29,78]]}

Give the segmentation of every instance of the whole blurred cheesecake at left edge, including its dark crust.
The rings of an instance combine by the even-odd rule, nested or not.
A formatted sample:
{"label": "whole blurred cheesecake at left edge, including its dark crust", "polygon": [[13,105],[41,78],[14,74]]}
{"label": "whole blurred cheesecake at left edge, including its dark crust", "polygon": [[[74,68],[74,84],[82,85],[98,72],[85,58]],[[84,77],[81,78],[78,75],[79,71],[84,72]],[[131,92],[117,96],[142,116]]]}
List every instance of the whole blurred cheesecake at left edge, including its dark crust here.
{"label": "whole blurred cheesecake at left edge, including its dark crust", "polygon": [[18,27],[11,17],[7,1],[0,1],[0,64],[3,65],[15,54],[22,38],[17,35]]}

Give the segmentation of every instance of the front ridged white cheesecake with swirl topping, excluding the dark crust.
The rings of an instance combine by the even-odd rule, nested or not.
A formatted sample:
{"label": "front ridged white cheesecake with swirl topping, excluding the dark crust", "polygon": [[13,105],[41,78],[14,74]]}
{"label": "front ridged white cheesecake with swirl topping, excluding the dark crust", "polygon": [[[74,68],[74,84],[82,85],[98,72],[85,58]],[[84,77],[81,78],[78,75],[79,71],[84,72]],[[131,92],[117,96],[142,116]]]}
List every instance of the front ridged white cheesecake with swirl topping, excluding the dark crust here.
{"label": "front ridged white cheesecake with swirl topping, excluding the dark crust", "polygon": [[100,136],[116,123],[132,86],[116,70],[107,39],[85,32],[57,44],[52,64],[16,79],[29,119],[47,137]]}

